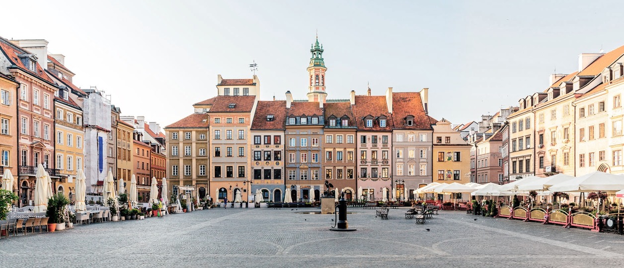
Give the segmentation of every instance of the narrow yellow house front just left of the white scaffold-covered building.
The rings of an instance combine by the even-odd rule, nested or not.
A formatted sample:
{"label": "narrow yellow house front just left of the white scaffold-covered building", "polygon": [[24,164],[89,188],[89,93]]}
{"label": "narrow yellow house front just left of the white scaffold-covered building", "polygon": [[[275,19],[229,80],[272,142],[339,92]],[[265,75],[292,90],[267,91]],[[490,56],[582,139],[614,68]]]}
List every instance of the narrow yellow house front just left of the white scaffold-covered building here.
{"label": "narrow yellow house front just left of the white scaffold-covered building", "polygon": [[56,192],[72,198],[77,171],[84,168],[82,109],[69,96],[67,88],[59,89],[59,96],[54,97],[54,107],[54,153],[57,175],[60,177],[55,187]]}

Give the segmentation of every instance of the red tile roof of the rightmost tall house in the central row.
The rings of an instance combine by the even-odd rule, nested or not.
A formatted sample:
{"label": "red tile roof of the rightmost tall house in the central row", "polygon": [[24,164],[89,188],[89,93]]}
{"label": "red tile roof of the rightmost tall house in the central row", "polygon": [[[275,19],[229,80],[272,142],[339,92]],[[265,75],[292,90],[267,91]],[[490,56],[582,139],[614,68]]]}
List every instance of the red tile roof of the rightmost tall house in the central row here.
{"label": "red tile roof of the rightmost tall house in the central row", "polygon": [[[412,126],[404,123],[407,116],[414,116]],[[396,129],[432,129],[431,124],[437,121],[431,119],[425,114],[419,92],[392,93],[392,120]]]}

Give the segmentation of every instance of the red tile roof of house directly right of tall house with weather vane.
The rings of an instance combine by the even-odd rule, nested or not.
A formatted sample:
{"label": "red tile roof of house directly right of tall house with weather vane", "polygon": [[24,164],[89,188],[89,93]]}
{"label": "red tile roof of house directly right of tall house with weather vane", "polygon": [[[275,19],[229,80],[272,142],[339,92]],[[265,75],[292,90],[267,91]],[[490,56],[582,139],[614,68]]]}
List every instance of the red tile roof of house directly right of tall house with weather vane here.
{"label": "red tile roof of house directly right of tall house with weather vane", "polygon": [[[273,115],[273,121],[266,116]],[[258,101],[256,114],[251,123],[252,130],[286,129],[286,101]]]}

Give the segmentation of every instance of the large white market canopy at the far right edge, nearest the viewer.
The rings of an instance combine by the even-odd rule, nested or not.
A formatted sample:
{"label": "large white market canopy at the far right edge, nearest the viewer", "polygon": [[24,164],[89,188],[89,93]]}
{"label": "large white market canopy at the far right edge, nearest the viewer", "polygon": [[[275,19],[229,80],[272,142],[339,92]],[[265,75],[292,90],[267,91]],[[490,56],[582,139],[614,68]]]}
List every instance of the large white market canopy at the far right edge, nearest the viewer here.
{"label": "large white market canopy at the far right edge, nearest the viewer", "polygon": [[552,192],[617,192],[624,189],[624,176],[594,171],[548,187]]}

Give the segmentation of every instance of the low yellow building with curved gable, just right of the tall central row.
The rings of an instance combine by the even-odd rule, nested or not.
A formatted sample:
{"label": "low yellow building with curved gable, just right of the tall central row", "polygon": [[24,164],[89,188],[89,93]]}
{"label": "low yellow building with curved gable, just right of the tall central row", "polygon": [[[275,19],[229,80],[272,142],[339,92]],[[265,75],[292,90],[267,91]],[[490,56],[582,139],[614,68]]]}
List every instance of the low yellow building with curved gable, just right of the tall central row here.
{"label": "low yellow building with curved gable, just right of the tall central row", "polygon": [[[433,125],[434,182],[470,182],[470,148],[472,147],[454,131],[446,119]],[[461,198],[461,197],[459,197]]]}

